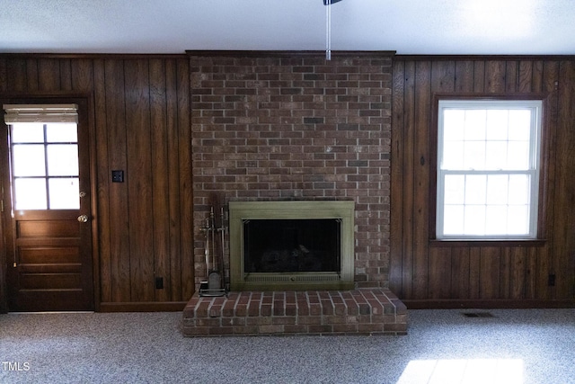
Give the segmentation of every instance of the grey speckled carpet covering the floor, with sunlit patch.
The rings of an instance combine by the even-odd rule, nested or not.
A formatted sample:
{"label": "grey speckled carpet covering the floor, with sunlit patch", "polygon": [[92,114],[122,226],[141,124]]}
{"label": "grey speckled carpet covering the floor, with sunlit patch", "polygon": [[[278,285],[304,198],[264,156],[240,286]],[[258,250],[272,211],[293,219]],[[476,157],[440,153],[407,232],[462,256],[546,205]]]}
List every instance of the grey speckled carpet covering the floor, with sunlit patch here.
{"label": "grey speckled carpet covering the floor, with sunlit patch", "polygon": [[409,317],[403,336],[186,338],[181,313],[0,315],[0,382],[575,383],[575,309]]}

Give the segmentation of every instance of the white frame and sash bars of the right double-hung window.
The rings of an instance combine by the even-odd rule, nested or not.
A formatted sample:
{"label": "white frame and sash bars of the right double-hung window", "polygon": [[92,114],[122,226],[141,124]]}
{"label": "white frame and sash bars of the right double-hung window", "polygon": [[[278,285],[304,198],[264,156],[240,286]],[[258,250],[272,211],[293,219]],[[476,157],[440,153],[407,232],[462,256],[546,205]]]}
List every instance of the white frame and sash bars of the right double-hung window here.
{"label": "white frame and sash bars of the right double-hung window", "polygon": [[[522,109],[531,112],[529,165],[526,170],[486,170],[486,169],[445,169],[442,165],[444,155],[444,112],[447,109],[456,110],[491,110],[491,109]],[[541,140],[543,121],[542,100],[439,100],[438,101],[438,163],[437,163],[437,206],[436,206],[436,238],[438,240],[529,240],[536,239],[539,207],[539,174],[541,168]],[[487,142],[487,141],[486,141]],[[486,155],[487,156],[487,155]],[[524,234],[470,234],[444,233],[445,180],[448,174],[527,174],[529,176],[528,230]],[[489,206],[487,203],[486,207]]]}

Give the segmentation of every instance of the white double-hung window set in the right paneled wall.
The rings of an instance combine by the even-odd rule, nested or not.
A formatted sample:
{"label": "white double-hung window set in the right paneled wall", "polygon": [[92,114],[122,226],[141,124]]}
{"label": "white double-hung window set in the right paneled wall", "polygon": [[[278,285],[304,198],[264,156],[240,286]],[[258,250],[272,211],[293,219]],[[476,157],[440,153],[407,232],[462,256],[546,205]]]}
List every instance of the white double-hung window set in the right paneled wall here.
{"label": "white double-hung window set in the right paneled wall", "polygon": [[438,239],[535,239],[543,103],[440,100]]}

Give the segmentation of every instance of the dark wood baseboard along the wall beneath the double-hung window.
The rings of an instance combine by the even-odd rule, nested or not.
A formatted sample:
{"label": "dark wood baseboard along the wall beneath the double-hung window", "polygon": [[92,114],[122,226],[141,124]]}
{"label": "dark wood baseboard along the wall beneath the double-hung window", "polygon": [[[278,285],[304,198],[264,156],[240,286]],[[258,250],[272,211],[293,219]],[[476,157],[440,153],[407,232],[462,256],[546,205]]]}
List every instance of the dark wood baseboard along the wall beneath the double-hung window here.
{"label": "dark wood baseboard along the wall beneath the double-hung window", "polygon": [[402,299],[408,309],[526,309],[526,308],[575,308],[575,300],[408,300]]}

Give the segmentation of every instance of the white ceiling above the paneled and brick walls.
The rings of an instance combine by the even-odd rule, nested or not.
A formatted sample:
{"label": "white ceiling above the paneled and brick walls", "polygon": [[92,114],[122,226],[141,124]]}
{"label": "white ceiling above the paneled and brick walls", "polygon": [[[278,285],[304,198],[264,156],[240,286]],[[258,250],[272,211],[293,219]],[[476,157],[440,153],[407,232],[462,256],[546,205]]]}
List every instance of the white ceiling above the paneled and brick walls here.
{"label": "white ceiling above the paneled and brick walls", "polygon": [[[341,0],[332,50],[575,54],[573,0]],[[323,0],[0,0],[0,52],[323,50]]]}

